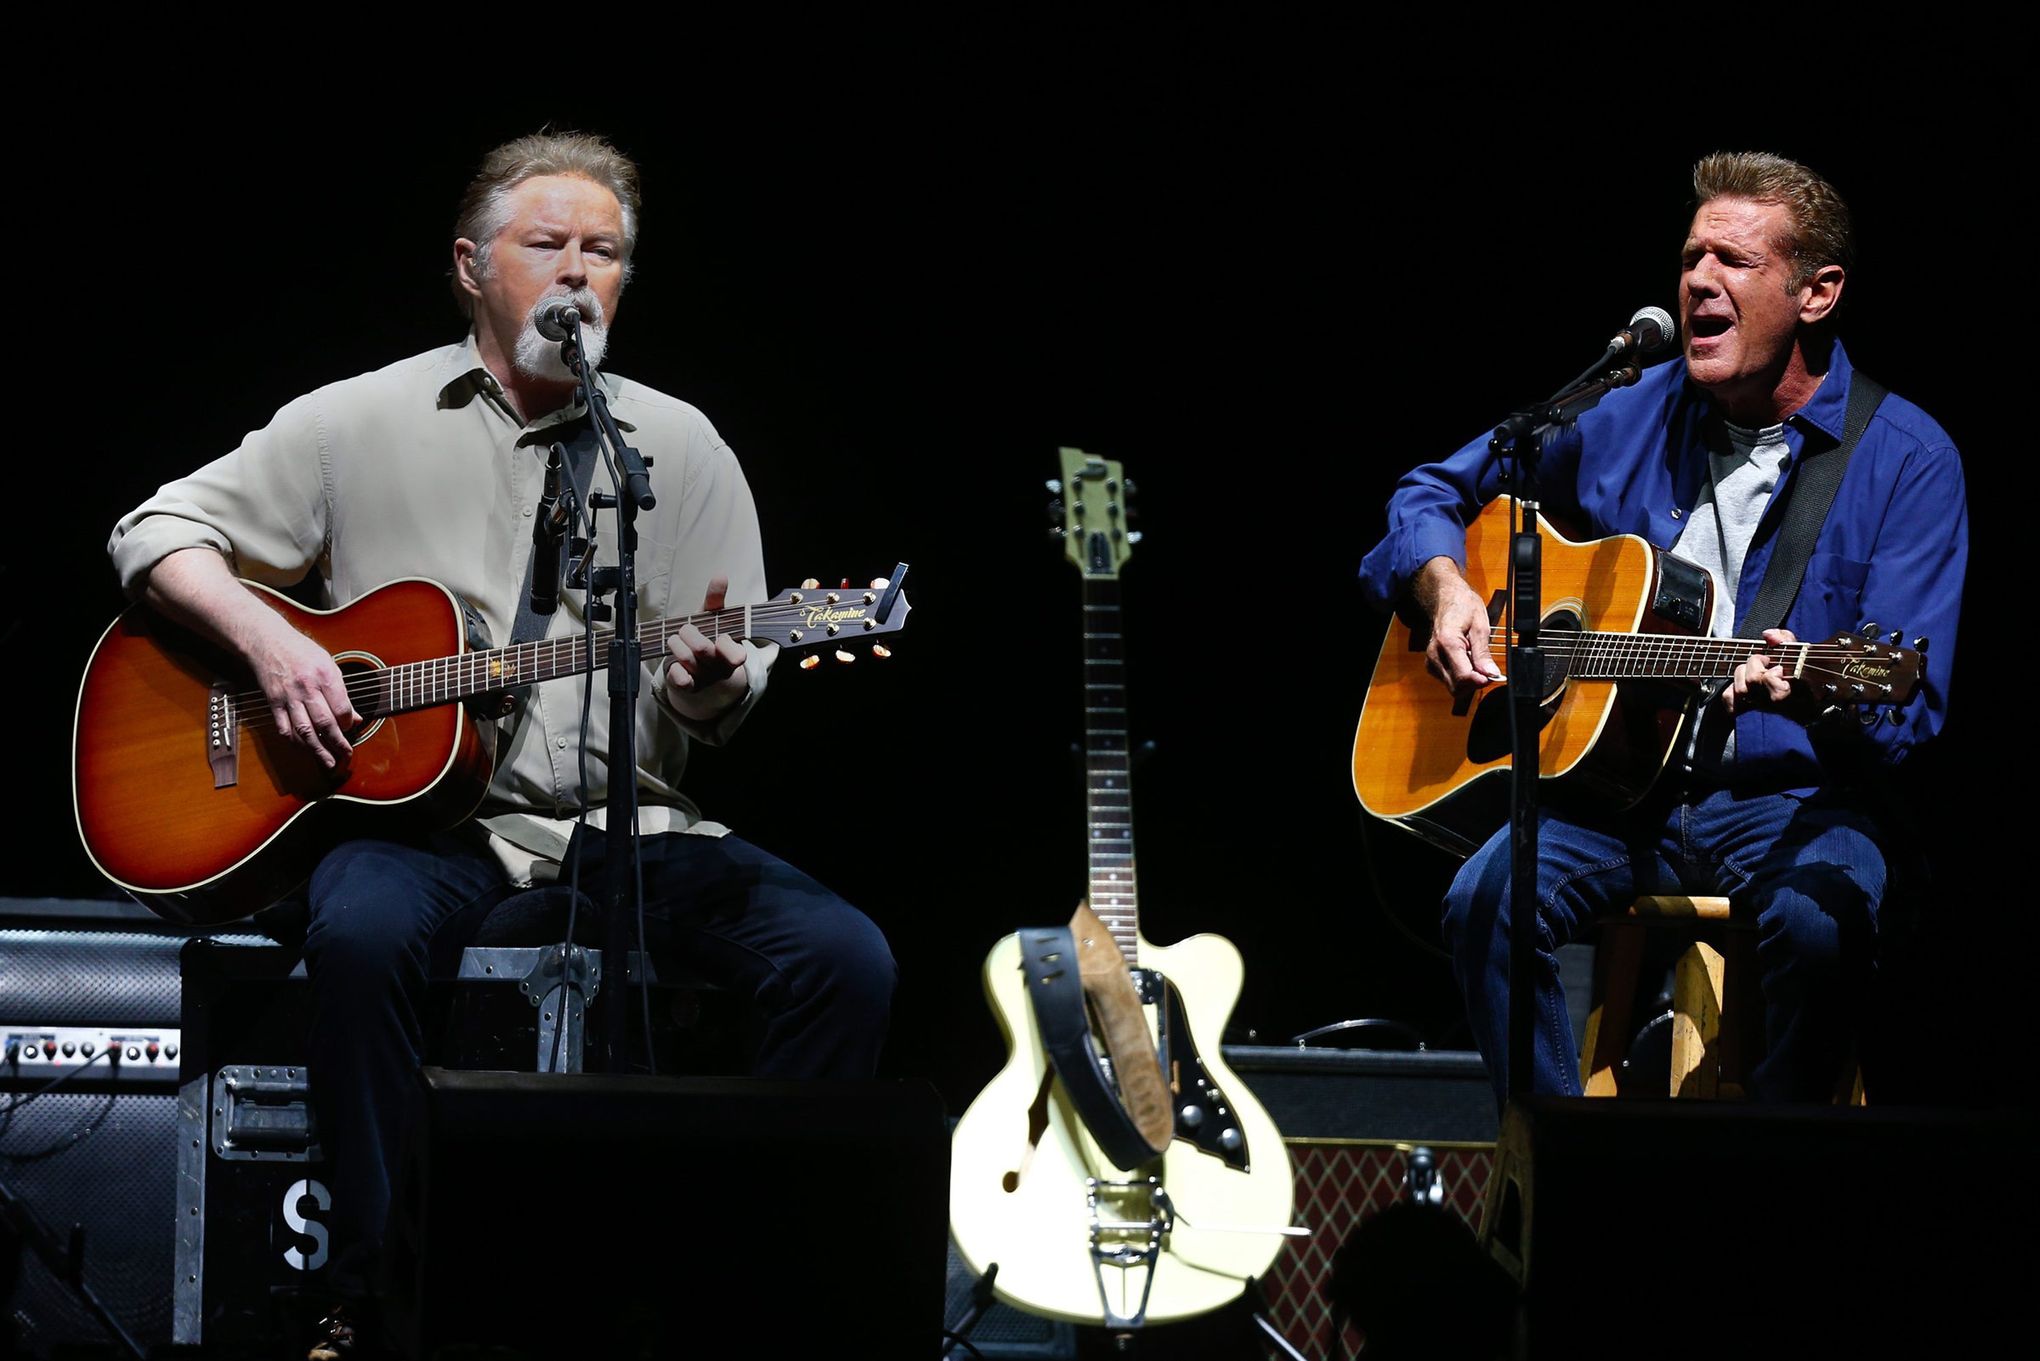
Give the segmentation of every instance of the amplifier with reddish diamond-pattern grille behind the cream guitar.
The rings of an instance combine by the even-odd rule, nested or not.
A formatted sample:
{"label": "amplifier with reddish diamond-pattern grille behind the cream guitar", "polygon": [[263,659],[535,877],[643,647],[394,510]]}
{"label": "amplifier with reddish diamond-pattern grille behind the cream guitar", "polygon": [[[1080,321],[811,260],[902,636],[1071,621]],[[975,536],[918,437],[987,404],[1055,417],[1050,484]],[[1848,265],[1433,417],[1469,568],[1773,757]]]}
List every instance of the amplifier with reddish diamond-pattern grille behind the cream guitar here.
{"label": "amplifier with reddish diamond-pattern grille behind the cream guitar", "polygon": [[1334,1332],[1332,1257],[1361,1222],[1410,1196],[1416,1149],[1428,1151],[1430,1202],[1469,1239],[1479,1230],[1499,1132],[1481,1055],[1251,1045],[1224,1055],[1283,1132],[1297,1224],[1312,1230],[1261,1281],[1269,1322],[1304,1355],[1359,1355],[1357,1332]]}

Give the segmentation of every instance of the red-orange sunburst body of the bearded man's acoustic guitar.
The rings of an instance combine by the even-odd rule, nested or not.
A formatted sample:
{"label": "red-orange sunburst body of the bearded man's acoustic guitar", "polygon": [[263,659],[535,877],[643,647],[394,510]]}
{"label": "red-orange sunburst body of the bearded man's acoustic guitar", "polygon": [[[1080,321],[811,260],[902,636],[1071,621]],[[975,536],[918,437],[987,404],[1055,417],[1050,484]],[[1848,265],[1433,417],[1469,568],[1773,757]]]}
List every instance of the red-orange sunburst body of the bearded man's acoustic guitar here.
{"label": "red-orange sunburst body of the bearded man's acoustic guitar", "polygon": [[[251,588],[343,671],[467,651],[461,602],[443,586],[392,582],[339,610],[306,610]],[[231,704],[237,753],[220,784],[210,716]],[[333,841],[402,808],[408,826],[449,826],[488,790],[492,753],[459,704],[373,718],[345,779],[286,743],[255,679],[218,647],[147,606],[100,637],[78,690],[71,790],[94,865],[159,914],[210,924],[267,906]]]}

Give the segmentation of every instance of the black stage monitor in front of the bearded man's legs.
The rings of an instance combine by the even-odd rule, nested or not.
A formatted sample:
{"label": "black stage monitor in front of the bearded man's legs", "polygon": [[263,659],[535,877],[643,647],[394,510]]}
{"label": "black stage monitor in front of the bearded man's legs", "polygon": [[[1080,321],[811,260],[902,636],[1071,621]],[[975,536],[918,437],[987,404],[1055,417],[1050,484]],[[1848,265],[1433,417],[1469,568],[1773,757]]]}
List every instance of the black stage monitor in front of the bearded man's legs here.
{"label": "black stage monitor in front of the bearded man's legs", "polygon": [[926,1083],[426,1067],[392,1218],[418,1355],[934,1355]]}

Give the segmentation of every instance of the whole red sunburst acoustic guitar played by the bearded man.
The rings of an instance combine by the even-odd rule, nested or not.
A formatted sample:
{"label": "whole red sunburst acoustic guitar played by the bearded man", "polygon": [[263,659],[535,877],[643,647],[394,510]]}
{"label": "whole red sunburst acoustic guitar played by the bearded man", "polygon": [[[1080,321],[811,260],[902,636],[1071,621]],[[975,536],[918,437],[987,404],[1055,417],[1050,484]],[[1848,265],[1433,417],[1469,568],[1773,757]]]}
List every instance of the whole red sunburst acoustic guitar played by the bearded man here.
{"label": "whole red sunburst acoustic guitar played by the bearded man", "polygon": [[[669,635],[694,624],[710,637],[840,649],[906,624],[904,571],[869,590],[810,584],[763,604],[647,622],[636,641],[657,659]],[[275,902],[345,837],[392,820],[451,826],[471,814],[494,769],[479,724],[504,712],[504,694],[606,665],[614,637],[598,628],[592,647],[577,635],[490,649],[463,600],[416,577],[339,610],[247,588],[339,661],[361,714],[343,771],[284,741],[239,657],[145,604],[114,618],[78,688],[71,794],[86,853],[184,924]]]}

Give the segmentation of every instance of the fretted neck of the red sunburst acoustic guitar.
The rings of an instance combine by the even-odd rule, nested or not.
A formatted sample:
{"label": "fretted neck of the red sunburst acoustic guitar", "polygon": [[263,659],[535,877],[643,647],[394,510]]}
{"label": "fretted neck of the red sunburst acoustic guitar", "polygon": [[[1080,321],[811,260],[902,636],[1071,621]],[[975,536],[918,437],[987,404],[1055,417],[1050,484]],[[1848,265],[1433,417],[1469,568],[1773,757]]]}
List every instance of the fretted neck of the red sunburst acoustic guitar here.
{"label": "fretted neck of the red sunburst acoustic guitar", "polygon": [[[657,657],[665,651],[665,641],[685,624],[694,624],[710,639],[773,639],[783,641],[789,631],[826,626],[830,606],[816,602],[773,600],[767,604],[730,606],[726,610],[704,610],[700,614],[677,614],[657,618],[636,628],[641,655]],[[798,633],[794,635],[798,639]],[[492,651],[459,653],[455,657],[432,657],[430,661],[406,661],[367,675],[367,692],[357,694],[355,708],[365,716],[404,714],[437,704],[457,704],[492,690],[512,686],[534,686],[561,675],[581,675],[598,665],[606,665],[614,628],[596,628],[594,635],[571,639],[534,639],[512,643]],[[363,682],[355,682],[357,686]]]}

